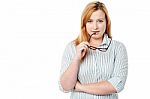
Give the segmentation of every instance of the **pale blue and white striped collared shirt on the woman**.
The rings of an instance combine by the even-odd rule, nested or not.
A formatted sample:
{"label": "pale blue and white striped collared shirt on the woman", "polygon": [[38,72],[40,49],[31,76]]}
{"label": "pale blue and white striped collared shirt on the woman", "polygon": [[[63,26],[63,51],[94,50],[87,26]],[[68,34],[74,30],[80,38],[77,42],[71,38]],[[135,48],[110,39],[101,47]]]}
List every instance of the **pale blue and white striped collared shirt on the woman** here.
{"label": "pale blue and white striped collared shirt on the woman", "polygon": [[[108,35],[104,35],[101,48],[106,48],[110,43]],[[76,53],[76,46],[70,42],[64,51],[61,63],[62,75],[72,62]],[[99,50],[89,49],[84,60],[80,64],[78,72],[78,80],[82,84],[96,83],[100,81],[108,81],[117,90],[117,93],[122,91],[126,82],[128,73],[128,56],[123,43],[112,40],[106,52]],[[63,90],[60,81],[60,89]],[[93,95],[88,93],[76,92],[74,89],[71,91],[70,99],[118,99],[117,93],[109,95]]]}

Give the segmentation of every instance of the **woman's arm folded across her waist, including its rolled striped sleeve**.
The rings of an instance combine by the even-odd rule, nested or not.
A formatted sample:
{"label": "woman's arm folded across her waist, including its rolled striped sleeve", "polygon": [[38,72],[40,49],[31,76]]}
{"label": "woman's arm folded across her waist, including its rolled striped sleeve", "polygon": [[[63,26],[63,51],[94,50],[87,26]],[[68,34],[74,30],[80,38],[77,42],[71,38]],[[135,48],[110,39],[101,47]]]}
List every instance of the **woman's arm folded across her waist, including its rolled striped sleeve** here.
{"label": "woman's arm folded across her waist, including its rolled striped sleeve", "polygon": [[101,81],[90,84],[76,83],[75,90],[89,94],[107,95],[118,93],[123,90],[128,74],[128,56],[123,44],[117,46],[114,70],[111,78],[107,81]]}

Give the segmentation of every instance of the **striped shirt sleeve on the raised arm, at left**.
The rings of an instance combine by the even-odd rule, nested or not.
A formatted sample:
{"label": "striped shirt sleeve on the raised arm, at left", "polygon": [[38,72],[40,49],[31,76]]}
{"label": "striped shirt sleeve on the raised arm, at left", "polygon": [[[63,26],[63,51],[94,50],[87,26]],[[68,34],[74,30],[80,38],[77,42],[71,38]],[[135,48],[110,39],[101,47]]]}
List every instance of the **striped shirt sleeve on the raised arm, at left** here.
{"label": "striped shirt sleeve on the raised arm, at left", "polygon": [[[69,44],[67,44],[65,50],[64,50],[64,53],[63,53],[63,56],[62,56],[62,60],[61,60],[61,69],[60,69],[60,76],[67,70],[67,68],[69,67],[69,65],[71,64],[71,61],[72,61],[72,58],[75,54],[75,45],[73,42],[70,42]],[[59,81],[58,81],[58,84],[59,84],[59,89],[62,91],[62,92],[70,92],[72,90],[69,90],[69,91],[65,91],[61,85],[61,82],[60,82],[60,77],[59,77]]]}

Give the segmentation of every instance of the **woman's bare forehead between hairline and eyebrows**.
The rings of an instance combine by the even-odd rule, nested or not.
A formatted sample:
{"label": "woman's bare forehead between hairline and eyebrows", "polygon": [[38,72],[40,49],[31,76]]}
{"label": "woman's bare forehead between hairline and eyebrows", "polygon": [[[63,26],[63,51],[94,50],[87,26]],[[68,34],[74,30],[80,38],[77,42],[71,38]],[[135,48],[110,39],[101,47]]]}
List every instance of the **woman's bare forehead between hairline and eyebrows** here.
{"label": "woman's bare forehead between hairline and eyebrows", "polygon": [[92,15],[90,16],[90,19],[99,19],[99,18],[105,18],[105,13],[102,10],[97,10],[95,12],[92,13]]}

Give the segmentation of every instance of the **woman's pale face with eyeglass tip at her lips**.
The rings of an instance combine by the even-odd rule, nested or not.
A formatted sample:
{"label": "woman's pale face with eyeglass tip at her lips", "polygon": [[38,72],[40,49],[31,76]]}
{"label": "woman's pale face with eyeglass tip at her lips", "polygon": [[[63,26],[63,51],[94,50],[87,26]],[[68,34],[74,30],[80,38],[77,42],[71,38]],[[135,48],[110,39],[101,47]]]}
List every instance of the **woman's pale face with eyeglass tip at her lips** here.
{"label": "woman's pale face with eyeglass tip at her lips", "polygon": [[92,13],[90,19],[86,23],[86,30],[90,35],[95,33],[92,38],[99,39],[103,36],[106,30],[106,18],[102,10],[97,10]]}

